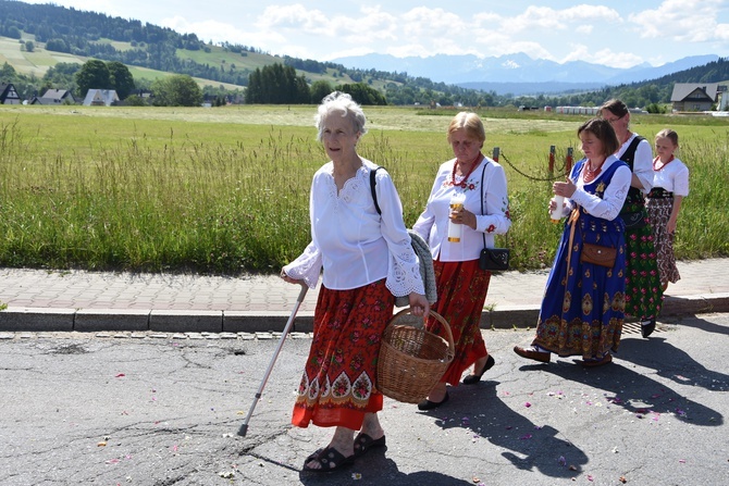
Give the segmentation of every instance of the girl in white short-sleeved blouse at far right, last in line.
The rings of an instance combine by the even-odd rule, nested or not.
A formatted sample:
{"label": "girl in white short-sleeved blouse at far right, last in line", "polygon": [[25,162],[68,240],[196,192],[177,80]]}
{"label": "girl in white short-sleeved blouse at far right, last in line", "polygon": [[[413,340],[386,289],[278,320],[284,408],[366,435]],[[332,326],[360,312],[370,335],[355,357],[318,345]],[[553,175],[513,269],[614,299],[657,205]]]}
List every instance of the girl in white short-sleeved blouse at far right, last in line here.
{"label": "girl in white short-sleeved blouse at far right, last in line", "polygon": [[653,160],[653,189],[646,208],[653,226],[658,271],[664,290],[681,278],[676,267],[674,237],[681,202],[689,196],[689,167],[676,157],[678,134],[660,130],[655,138],[656,157]]}

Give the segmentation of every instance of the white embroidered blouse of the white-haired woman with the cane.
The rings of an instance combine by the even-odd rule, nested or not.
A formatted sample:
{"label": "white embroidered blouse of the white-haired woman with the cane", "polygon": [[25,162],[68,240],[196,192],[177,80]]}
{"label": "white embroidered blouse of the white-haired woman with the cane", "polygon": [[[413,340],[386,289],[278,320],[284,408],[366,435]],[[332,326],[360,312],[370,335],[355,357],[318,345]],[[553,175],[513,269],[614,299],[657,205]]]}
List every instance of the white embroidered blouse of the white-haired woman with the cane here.
{"label": "white embroidered blouse of the white-haired woman with the cane", "polygon": [[403,205],[384,170],[375,175],[382,215],[374,208],[370,171],[375,169],[374,163],[362,159],[362,166],[338,194],[334,163],[317,171],[309,196],[311,242],[284,266],[289,277],[314,288],[323,269],[322,283],[332,290],[359,288],[385,278],[395,296],[425,294],[418,258],[403,222]]}

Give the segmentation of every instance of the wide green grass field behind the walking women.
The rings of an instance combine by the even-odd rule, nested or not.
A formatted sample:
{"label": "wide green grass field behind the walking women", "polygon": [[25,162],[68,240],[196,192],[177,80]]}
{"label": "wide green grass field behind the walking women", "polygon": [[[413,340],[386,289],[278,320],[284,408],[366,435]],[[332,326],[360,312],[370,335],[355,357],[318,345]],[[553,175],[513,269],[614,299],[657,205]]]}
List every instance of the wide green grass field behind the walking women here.
{"label": "wide green grass field behind the walking women", "polygon": [[[0,107],[0,265],[276,272],[309,240],[309,185],[325,162],[314,112]],[[454,113],[366,108],[370,133],[360,154],[393,175],[408,225],[423,209],[436,167],[452,158],[445,129]],[[560,233],[546,214],[549,147],[561,166],[585,119],[481,115],[484,152],[501,149],[511,199],[512,229],[498,244],[514,250],[516,269],[548,266]],[[650,140],[664,127],[679,133],[679,157],[691,170],[678,257],[729,254],[729,121],[633,117],[633,129]]]}

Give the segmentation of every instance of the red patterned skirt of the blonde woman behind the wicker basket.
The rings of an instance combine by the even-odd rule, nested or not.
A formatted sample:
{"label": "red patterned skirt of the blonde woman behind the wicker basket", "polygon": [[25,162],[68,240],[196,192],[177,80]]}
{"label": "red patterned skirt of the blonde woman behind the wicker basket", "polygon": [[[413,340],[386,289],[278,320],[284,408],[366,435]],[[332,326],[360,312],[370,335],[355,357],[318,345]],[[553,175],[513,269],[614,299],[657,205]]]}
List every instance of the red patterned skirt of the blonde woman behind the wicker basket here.
{"label": "red patterned skirt of the blonde woman behind the wicker basket", "polygon": [[[458,386],[460,376],[479,358],[487,354],[481,336],[481,313],[486,301],[491,272],[481,270],[478,260],[466,262],[433,262],[437,301],[432,310],[450,326],[456,356],[441,382]],[[427,329],[445,337],[442,324],[428,320]]]}

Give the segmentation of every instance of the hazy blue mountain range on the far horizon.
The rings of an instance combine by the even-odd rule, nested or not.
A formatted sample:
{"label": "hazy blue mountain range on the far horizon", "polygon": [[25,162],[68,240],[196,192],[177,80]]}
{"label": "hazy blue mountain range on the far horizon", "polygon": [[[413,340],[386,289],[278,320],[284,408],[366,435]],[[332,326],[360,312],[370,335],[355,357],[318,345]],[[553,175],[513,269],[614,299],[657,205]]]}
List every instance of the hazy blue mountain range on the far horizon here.
{"label": "hazy blue mountain range on the far horizon", "polygon": [[524,53],[490,58],[473,54],[396,58],[373,53],[337,58],[332,62],[353,68],[406,72],[409,76],[425,77],[436,83],[519,96],[583,91],[639,83],[705,65],[718,59],[716,54],[691,55],[660,66],[643,63],[628,68],[584,61],[560,64],[545,59],[532,59]]}

